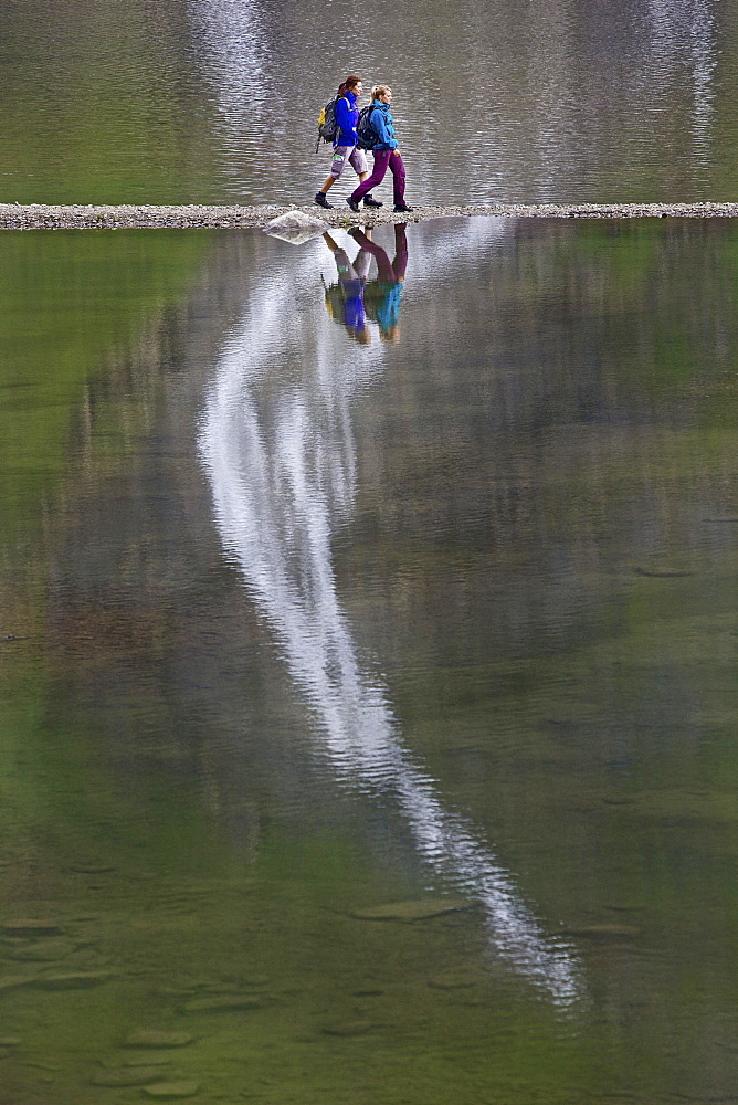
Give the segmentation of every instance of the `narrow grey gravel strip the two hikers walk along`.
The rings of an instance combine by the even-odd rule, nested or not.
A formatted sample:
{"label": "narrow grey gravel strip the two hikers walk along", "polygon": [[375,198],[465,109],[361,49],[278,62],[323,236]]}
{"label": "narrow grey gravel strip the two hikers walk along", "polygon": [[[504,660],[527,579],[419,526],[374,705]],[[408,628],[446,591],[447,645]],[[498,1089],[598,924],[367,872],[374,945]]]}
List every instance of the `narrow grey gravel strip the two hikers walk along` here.
{"label": "narrow grey gravel strip the two hikers walk along", "polygon": [[184,204],[56,204],[0,203],[0,230],[169,230],[263,228],[277,215],[302,211],[329,227],[378,227],[429,219],[468,219],[475,215],[508,219],[732,219],[738,203],[462,203],[417,207],[396,214],[391,207],[354,214],[344,203],[326,211],[315,203],[217,206]]}

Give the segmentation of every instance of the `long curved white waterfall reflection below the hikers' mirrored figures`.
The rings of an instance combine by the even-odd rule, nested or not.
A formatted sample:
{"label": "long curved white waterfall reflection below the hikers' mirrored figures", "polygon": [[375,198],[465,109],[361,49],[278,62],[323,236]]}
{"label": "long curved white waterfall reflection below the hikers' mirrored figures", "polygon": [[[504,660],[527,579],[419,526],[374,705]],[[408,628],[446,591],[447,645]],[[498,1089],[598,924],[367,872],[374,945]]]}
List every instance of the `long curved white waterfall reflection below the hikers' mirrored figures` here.
{"label": "long curved white waterfall reflection below the hikers' mirrored figures", "polygon": [[280,275],[260,286],[210,389],[201,445],[221,540],[280,643],[337,780],[389,798],[436,877],[479,901],[498,954],[569,1003],[581,992],[569,949],[546,935],[481,832],[446,809],[404,747],[381,681],[362,663],[331,544],[356,496],[356,389],[380,364],[338,330],[303,327],[302,370],[285,375],[295,340],[282,327],[291,285]]}

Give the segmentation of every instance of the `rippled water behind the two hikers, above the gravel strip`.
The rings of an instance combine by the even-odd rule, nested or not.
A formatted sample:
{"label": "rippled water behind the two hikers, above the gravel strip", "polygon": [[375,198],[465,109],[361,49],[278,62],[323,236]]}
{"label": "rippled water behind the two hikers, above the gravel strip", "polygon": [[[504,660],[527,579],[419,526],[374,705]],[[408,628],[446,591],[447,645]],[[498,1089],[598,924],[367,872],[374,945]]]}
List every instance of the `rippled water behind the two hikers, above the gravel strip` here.
{"label": "rippled water behind the two hikers, above the gravel strip", "polygon": [[7,0],[0,199],[309,202],[356,72],[410,202],[736,200],[737,44],[735,0]]}

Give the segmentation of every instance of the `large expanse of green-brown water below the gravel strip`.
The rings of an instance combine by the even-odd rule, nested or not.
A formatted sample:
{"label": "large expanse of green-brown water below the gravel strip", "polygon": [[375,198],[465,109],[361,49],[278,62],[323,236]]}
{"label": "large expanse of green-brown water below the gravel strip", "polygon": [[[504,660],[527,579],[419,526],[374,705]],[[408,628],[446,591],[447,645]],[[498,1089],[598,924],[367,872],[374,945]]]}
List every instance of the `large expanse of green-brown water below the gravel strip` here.
{"label": "large expanse of green-brown water below the gravel strip", "polygon": [[407,244],[0,240],[8,1105],[736,1095],[738,233]]}

